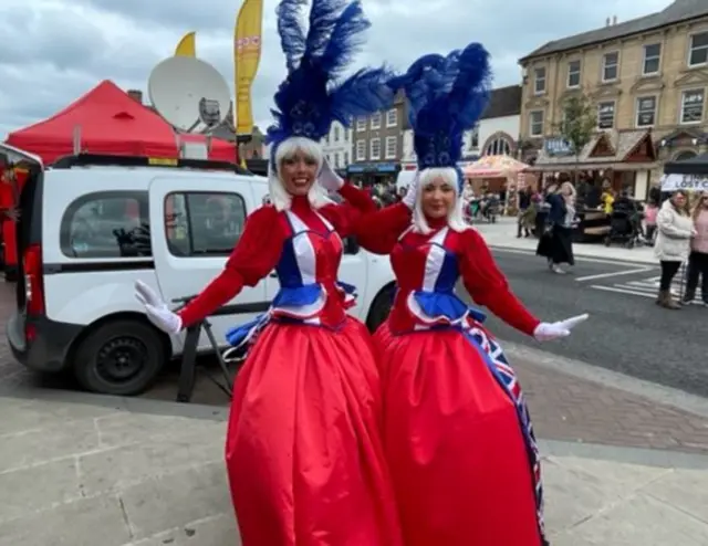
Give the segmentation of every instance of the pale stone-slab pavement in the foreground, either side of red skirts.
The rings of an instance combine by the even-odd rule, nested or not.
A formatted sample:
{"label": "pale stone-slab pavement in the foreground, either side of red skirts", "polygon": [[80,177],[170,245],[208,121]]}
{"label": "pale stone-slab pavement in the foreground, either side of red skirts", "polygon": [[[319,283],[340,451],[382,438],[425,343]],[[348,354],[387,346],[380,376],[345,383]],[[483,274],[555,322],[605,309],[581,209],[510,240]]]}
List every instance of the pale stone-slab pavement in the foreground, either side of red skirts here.
{"label": "pale stone-slab pavement in the foreground, either side of red skirts", "polygon": [[[0,438],[3,453],[23,453],[0,468],[0,546],[240,544],[225,411],[30,389],[0,397],[0,408],[40,418]],[[66,448],[80,432],[91,440]],[[708,544],[708,456],[546,439],[540,448],[554,546]]]}

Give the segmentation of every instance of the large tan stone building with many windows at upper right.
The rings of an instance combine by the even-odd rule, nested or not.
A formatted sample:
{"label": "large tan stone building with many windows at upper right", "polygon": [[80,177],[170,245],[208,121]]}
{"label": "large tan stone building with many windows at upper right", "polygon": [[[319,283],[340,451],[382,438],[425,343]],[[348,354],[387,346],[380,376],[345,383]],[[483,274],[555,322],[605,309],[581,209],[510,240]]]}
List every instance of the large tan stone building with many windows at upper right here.
{"label": "large tan stone building with many windows at upper right", "polygon": [[550,42],[520,60],[520,151],[540,171],[575,168],[556,127],[563,104],[584,94],[597,130],[577,167],[633,186],[639,198],[663,164],[708,144],[708,2],[676,0],[665,10]]}

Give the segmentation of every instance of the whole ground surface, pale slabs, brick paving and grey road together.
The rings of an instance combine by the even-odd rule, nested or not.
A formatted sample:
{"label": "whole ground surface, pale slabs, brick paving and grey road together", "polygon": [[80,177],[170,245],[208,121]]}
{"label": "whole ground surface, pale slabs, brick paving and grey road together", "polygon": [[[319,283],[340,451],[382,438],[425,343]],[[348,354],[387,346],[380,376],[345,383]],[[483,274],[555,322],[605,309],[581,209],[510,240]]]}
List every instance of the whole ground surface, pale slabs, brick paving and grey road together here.
{"label": "whole ground surface, pale slabs, brick paving and grey road together", "polygon": [[[663,312],[641,290],[598,288],[649,293],[650,263],[581,259],[559,277],[523,250],[494,253],[541,317],[592,314],[571,339],[544,345],[489,319],[540,438],[553,546],[708,544],[708,400],[616,372],[696,391],[688,375],[705,395],[708,311]],[[0,285],[0,315],[12,296]],[[175,370],[145,397],[85,395],[28,372],[0,339],[0,546],[94,546],[97,535],[106,546],[238,546],[222,463],[228,400],[205,371],[191,405],[171,402]]]}

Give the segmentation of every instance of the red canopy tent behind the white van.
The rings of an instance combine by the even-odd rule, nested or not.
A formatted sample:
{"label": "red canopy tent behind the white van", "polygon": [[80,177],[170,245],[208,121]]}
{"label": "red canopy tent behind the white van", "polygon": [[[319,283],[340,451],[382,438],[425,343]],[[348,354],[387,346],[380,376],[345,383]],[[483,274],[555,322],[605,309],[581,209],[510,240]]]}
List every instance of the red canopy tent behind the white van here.
{"label": "red canopy tent behind the white van", "polygon": [[[7,144],[30,151],[45,165],[81,150],[121,156],[178,157],[175,133],[147,106],[105,80],[52,117],[8,135]],[[201,135],[183,135],[183,141],[205,141]],[[236,146],[211,139],[210,159],[237,161]]]}

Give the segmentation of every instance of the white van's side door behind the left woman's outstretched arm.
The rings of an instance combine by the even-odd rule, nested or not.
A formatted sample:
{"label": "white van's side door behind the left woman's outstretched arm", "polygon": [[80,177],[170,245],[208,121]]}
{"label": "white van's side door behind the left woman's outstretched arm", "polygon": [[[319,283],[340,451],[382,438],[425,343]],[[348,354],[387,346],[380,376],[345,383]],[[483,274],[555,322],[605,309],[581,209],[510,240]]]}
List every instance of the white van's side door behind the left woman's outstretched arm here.
{"label": "white van's side door behind the left woman's outstretched arm", "polygon": [[[199,174],[159,176],[150,181],[150,238],[157,283],[170,307],[201,292],[223,270],[247,214],[257,208],[249,181]],[[226,306],[231,313],[209,318],[216,339],[223,345],[229,328],[268,309],[266,280],[244,287]],[[211,348],[204,332],[199,348]]]}

